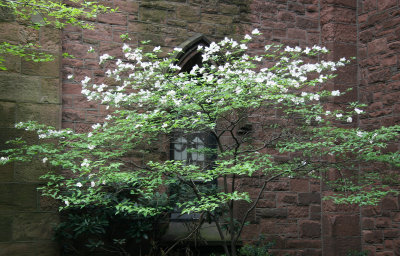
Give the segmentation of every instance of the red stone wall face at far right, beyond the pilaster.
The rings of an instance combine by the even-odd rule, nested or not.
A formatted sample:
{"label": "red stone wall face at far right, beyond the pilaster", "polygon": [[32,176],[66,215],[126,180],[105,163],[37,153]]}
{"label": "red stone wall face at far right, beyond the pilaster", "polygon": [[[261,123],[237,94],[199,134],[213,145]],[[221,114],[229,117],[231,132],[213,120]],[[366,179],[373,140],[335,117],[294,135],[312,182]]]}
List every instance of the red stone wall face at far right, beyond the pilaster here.
{"label": "red stone wall face at far right, beyond the pilaster", "polygon": [[[400,6],[398,1],[359,3],[360,100],[368,105],[360,127],[400,123]],[[400,150],[393,144],[388,150]],[[398,171],[398,170],[397,170]],[[363,248],[372,256],[400,255],[400,197],[361,211]]]}

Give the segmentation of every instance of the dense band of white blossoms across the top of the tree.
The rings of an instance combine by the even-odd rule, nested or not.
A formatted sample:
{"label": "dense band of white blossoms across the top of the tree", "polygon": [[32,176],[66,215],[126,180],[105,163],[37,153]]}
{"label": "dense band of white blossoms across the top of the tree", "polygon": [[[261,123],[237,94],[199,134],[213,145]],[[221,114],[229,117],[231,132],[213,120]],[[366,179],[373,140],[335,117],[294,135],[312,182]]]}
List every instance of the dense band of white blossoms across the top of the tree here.
{"label": "dense band of white blossoms across the top of the tree", "polygon": [[[173,60],[154,57],[154,53],[161,52],[160,46],[154,47],[153,53],[148,55],[144,54],[141,48],[132,49],[124,44],[122,48],[125,59],[116,60],[116,68],[106,72],[108,77],[118,81],[118,85],[89,84],[91,79],[85,77],[82,80],[82,93],[89,100],[99,100],[103,104],[115,107],[144,107],[144,112],[149,115],[159,108],[170,107],[189,109],[191,106],[193,111],[197,111],[193,102],[198,95],[201,95],[204,102],[213,102],[219,107],[231,104],[236,99],[250,98],[303,104],[319,101],[322,96],[327,95],[323,92],[301,93],[303,87],[326,81],[331,76],[325,72],[335,71],[347,63],[346,59],[338,62],[304,63],[298,58],[326,53],[328,50],[325,47],[283,48],[279,45],[268,45],[265,47],[266,51],[271,50],[272,54],[279,52],[276,54],[278,61],[275,66],[269,65],[268,68],[261,67],[260,70],[256,70],[255,65],[262,65],[262,61],[267,59],[268,55],[250,56],[244,54],[243,50],[248,47],[246,42],[259,34],[260,31],[254,29],[251,34],[245,35],[245,41],[242,41],[245,43],[224,38],[219,43],[212,42],[209,46],[200,45],[198,50],[202,53],[203,65],[193,66],[189,74],[182,72],[178,75],[171,75],[180,69]],[[174,49],[174,52],[179,51],[182,49]],[[242,54],[238,55],[238,52]],[[108,59],[112,57],[105,54],[100,57],[100,62]],[[221,61],[216,61],[220,59]],[[310,73],[316,73],[317,76],[312,76],[316,78],[310,80]],[[293,88],[296,89],[296,93],[292,92]],[[333,91],[331,95],[341,94],[339,91]],[[316,117],[317,121],[320,118]],[[347,121],[352,122],[352,118],[347,117]],[[98,128],[100,126],[93,127]],[[93,147],[94,145],[88,145],[90,149]]]}

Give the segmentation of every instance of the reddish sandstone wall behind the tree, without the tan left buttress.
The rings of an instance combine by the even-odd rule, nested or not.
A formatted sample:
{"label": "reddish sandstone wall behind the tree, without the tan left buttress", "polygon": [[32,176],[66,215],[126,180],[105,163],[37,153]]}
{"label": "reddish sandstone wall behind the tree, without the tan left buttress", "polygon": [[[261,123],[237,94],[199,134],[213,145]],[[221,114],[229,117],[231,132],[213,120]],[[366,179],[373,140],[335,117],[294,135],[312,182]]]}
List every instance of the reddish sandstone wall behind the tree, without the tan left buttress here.
{"label": "reddish sandstone wall behind the tree, without the tan left buttress", "polygon": [[[361,127],[377,127],[399,122],[399,5],[395,0],[252,0],[252,1],[122,1],[108,2],[119,11],[99,17],[95,31],[66,28],[63,49],[77,56],[63,60],[64,128],[87,131],[101,121],[104,106],[88,103],[81,96],[79,81],[84,76],[103,79],[98,65],[103,53],[120,55],[121,34],[129,43],[152,45],[165,50],[178,46],[195,33],[209,39],[237,36],[258,28],[268,43],[291,46],[322,44],[332,52],[330,59],[358,57],[352,65],[326,86],[333,90],[353,90],[331,102],[345,105],[362,100],[368,115],[357,120]],[[88,53],[90,47],[96,53]],[[360,66],[358,66],[358,64]],[[359,72],[358,72],[359,71]],[[73,74],[75,80],[67,80]],[[396,111],[397,110],[397,111]],[[274,111],[270,113],[276,115]],[[398,150],[398,145],[393,145]],[[250,193],[259,184],[249,181]],[[244,239],[264,233],[276,241],[277,255],[338,255],[349,250],[369,249],[376,255],[400,255],[399,198],[382,207],[360,211],[355,206],[335,206],[322,202],[328,194],[319,182],[290,179],[272,182],[263,195]],[[375,254],[372,254],[375,255]]]}

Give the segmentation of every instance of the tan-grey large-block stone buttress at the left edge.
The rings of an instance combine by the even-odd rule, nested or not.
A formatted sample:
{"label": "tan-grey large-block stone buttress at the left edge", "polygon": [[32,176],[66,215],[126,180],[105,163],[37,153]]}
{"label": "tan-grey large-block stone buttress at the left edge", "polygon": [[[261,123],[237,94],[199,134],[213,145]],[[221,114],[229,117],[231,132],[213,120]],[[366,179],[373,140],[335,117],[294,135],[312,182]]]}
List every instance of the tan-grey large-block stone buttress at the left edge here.
{"label": "tan-grey large-block stone buttress at the left edge", "polygon": [[[36,141],[36,136],[14,129],[20,121],[37,120],[61,127],[61,37],[60,31],[34,30],[18,24],[0,9],[0,40],[12,43],[39,43],[55,61],[33,63],[5,56],[7,71],[0,72],[0,148],[15,137]],[[38,162],[0,167],[0,255],[57,255],[52,241],[58,221],[57,206],[37,191],[38,177],[44,174]]]}

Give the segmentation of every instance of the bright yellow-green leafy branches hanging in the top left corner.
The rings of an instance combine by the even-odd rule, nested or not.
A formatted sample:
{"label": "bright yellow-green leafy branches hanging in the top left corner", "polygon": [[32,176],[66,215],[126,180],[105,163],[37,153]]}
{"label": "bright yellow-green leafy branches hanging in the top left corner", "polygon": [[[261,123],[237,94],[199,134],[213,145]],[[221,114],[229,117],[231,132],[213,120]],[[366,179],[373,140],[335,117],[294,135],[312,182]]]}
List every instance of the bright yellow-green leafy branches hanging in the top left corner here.
{"label": "bright yellow-green leafy branches hanging in the top left corner", "polygon": [[[83,29],[92,29],[87,22],[96,18],[101,13],[115,12],[115,9],[99,4],[97,1],[72,0],[73,5],[67,5],[62,1],[49,0],[3,0],[0,8],[8,12],[11,17],[25,25],[35,29],[43,26],[61,29],[66,25],[78,26]],[[49,53],[38,51],[39,45],[32,43],[15,44],[14,42],[0,42],[0,70],[6,70],[5,58],[14,55],[34,62],[47,62],[54,60]]]}

